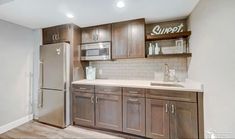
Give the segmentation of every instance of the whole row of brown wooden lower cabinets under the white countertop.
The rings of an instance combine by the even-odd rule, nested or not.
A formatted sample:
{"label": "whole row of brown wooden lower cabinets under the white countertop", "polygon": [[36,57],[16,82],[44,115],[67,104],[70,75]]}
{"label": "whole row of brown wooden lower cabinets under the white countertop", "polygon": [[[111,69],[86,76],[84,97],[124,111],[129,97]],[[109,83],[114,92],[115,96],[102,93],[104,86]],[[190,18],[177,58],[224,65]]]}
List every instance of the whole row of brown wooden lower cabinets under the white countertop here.
{"label": "whole row of brown wooden lower cabinets under the white countertop", "polygon": [[173,91],[84,85],[74,86],[73,91],[76,125],[154,139],[199,137],[200,111],[195,92],[174,94]]}

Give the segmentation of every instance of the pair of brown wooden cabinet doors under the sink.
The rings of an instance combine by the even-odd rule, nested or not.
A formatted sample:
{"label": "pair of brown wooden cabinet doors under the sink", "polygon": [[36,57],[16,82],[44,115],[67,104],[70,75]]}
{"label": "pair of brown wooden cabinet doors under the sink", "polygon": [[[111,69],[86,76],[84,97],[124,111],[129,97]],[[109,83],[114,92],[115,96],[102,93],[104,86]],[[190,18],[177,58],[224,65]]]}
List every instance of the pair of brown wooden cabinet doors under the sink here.
{"label": "pair of brown wooden cabinet doors under the sink", "polygon": [[146,135],[149,138],[197,139],[197,103],[146,100]]}

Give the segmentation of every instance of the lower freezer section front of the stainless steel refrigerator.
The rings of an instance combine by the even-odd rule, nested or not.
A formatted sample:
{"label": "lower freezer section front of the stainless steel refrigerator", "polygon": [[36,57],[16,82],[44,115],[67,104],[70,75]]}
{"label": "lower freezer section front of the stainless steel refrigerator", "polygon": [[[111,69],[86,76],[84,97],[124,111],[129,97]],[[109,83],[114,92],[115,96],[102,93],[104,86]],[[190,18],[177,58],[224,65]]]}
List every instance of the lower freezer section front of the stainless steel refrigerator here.
{"label": "lower freezer section front of the stainless steel refrigerator", "polygon": [[65,123],[65,92],[57,90],[40,91],[39,121],[62,127]]}

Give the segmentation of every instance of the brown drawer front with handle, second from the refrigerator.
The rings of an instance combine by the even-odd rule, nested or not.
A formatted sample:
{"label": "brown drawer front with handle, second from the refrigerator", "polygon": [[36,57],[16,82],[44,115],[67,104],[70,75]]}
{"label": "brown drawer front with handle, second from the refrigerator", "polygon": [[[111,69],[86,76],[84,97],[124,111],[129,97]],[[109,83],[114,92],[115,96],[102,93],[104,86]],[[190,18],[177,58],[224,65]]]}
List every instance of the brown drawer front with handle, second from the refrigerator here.
{"label": "brown drawer front with handle, second from the refrigerator", "polygon": [[121,87],[111,87],[111,86],[95,86],[95,93],[122,95],[122,88]]}

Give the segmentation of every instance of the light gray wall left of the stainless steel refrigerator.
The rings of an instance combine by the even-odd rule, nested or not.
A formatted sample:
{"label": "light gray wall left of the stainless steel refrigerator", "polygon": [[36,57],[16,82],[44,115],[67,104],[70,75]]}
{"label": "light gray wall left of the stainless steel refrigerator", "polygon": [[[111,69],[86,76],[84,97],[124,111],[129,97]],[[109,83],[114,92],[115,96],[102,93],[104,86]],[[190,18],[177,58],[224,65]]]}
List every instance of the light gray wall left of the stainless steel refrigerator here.
{"label": "light gray wall left of the stainless steel refrigerator", "polygon": [[34,35],[0,20],[0,126],[31,114]]}

